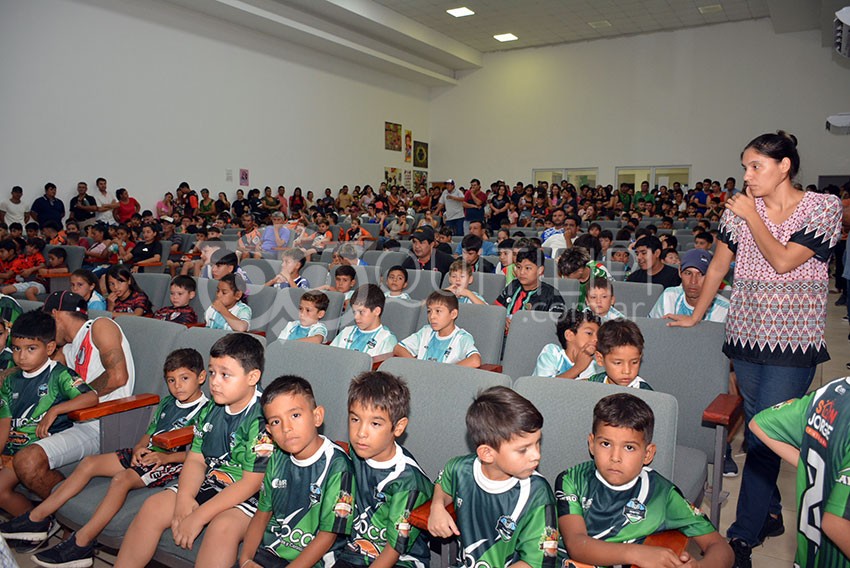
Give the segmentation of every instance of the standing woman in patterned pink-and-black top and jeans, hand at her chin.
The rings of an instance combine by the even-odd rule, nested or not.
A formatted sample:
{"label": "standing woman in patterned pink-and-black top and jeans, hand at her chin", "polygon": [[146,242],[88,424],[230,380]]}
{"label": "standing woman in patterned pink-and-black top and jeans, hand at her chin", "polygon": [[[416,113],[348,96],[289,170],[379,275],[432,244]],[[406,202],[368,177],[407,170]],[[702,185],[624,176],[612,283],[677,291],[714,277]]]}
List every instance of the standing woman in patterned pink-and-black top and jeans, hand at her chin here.
{"label": "standing woman in patterned pink-and-black top and jeans, hand at her chin", "polygon": [[[735,259],[723,352],[735,366],[748,423],[760,410],[803,396],[817,365],[829,359],[827,267],[841,232],[841,204],[833,195],[794,189],[797,139],[783,131],[747,144],[741,163],[746,189],[726,202],[694,313],[668,317],[671,326],[701,320]],[[751,566],[752,547],[784,531],[778,475],[779,456],[748,432],[737,516],[727,531],[737,567]],[[820,517],[802,512],[800,530],[812,515]]]}

